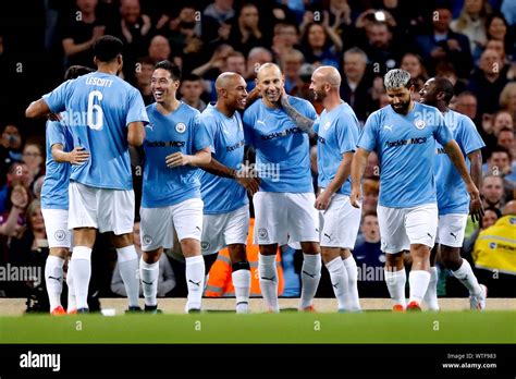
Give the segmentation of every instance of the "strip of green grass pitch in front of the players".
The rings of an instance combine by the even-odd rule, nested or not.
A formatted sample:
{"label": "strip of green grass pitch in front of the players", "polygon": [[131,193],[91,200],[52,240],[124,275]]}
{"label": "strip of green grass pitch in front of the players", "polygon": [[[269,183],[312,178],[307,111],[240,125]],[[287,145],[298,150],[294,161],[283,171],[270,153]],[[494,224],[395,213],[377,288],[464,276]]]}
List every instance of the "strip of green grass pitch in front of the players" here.
{"label": "strip of green grass pitch in front of the players", "polygon": [[0,343],[516,343],[516,311],[17,316]]}

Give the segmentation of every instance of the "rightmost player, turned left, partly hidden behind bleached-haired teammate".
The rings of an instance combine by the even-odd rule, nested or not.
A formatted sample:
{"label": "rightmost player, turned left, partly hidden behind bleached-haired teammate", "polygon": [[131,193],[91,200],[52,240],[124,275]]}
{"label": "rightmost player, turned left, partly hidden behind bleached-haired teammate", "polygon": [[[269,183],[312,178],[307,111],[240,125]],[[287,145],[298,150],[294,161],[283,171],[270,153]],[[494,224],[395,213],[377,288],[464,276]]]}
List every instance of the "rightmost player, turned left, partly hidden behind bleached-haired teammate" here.
{"label": "rightmost player, turned left, partly hidden behind bleached-haired teammate", "polygon": [[[452,131],[468,167],[470,167],[470,175],[477,187],[480,187],[482,178],[480,149],[486,145],[472,121],[467,115],[449,108],[453,97],[453,84],[443,77],[430,78],[425,83],[419,94],[421,95],[420,102],[438,108],[444,115],[446,126]],[[474,203],[480,201],[479,199],[469,200],[464,182],[439,144],[437,144],[435,157],[435,185],[439,208],[438,245],[430,259],[431,278],[425,295],[425,303],[430,309],[439,310],[437,290],[439,274],[434,264],[437,249],[440,248],[442,266],[452,270],[453,276],[469,290],[471,309],[483,309],[487,289],[483,284],[478,283],[469,262],[460,258],[468,212],[471,210],[471,218],[479,221],[482,217],[482,208]]]}

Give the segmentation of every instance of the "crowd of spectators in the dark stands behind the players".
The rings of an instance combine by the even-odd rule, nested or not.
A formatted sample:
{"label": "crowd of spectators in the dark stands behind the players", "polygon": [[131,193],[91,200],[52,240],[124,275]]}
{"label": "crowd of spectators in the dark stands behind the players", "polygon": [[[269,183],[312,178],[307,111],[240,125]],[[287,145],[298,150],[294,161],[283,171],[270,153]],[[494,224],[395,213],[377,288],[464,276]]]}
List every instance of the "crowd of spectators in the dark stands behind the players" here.
{"label": "crowd of spectators in the dark stands behind the players", "polygon": [[[257,69],[275,62],[285,75],[287,94],[309,100],[316,110],[310,77],[320,65],[332,65],[342,75],[341,97],[360,124],[389,103],[385,73],[401,68],[416,83],[414,99],[429,77],[441,76],[454,85],[451,108],[469,117],[482,137],[486,209],[478,224],[468,221],[462,255],[476,274],[489,280],[490,296],[515,296],[514,259],[497,261],[495,249],[479,235],[513,239],[513,228],[497,223],[508,201],[516,199],[516,3],[509,0],[76,0],[39,1],[33,10],[40,21],[35,53],[45,65],[45,77],[20,99],[37,98],[62,82],[71,65],[95,68],[93,45],[103,35],[124,42],[122,77],[133,84],[145,105],[153,102],[151,75],[157,62],[170,60],[182,69],[180,98],[202,111],[217,100],[216,78],[223,72],[241,74],[247,90],[255,87]],[[9,23],[0,29],[5,51],[12,38]],[[34,26],[37,27],[37,26]],[[0,48],[3,75],[15,70]],[[3,57],[2,57],[3,56]],[[34,58],[33,58],[34,59]],[[30,64],[27,63],[30,75]],[[4,72],[8,72],[7,74]],[[30,76],[29,76],[30,77]],[[27,121],[9,90],[0,97],[0,265],[45,266],[48,255],[40,192],[45,178],[45,123]],[[316,145],[316,139],[310,140]],[[310,150],[317,183],[317,149]],[[139,209],[142,168],[134,163],[136,210]],[[139,188],[139,190],[138,190]],[[364,175],[360,231],[355,246],[360,296],[388,296],[383,278],[367,278],[367,268],[383,267],[377,219],[378,158],[371,154]],[[505,213],[506,216],[507,213]],[[514,216],[513,213],[508,213]],[[513,242],[514,244],[514,242]],[[514,245],[513,245],[514,246]],[[299,249],[290,249],[283,267],[284,288],[299,295]],[[297,255],[296,255],[297,254]],[[98,239],[93,254],[90,294],[124,295],[120,288],[116,254],[106,239]],[[221,255],[222,257],[222,255]],[[286,256],[285,256],[286,257]],[[294,257],[294,258],[293,258]],[[184,262],[171,252],[162,257],[159,295],[184,296]],[[220,258],[220,259],[223,259]],[[477,265],[479,262],[479,265]],[[439,264],[439,260],[438,260]],[[477,267],[478,266],[478,267]],[[217,265],[214,266],[217,267]],[[113,280],[113,270],[115,276]],[[496,279],[492,280],[493,272]],[[332,296],[323,270],[319,296]],[[120,278],[119,278],[120,279]],[[119,283],[119,284],[118,284]],[[497,285],[503,283],[503,285]],[[0,282],[0,296],[35,296],[34,283]],[[209,289],[208,289],[209,290]],[[464,295],[465,289],[442,270],[439,294]],[[222,295],[222,294],[219,294]],[[39,296],[42,301],[45,296]]]}

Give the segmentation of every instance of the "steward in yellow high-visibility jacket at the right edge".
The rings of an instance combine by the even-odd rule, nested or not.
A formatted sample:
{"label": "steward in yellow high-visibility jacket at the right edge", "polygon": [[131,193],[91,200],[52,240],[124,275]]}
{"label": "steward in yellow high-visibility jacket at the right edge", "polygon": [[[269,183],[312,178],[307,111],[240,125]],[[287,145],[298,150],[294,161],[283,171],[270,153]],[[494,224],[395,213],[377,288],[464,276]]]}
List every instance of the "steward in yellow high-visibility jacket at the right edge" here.
{"label": "steward in yellow high-visibility jacket at the right edge", "polygon": [[490,296],[516,295],[516,200],[507,203],[503,217],[479,234],[472,259]]}

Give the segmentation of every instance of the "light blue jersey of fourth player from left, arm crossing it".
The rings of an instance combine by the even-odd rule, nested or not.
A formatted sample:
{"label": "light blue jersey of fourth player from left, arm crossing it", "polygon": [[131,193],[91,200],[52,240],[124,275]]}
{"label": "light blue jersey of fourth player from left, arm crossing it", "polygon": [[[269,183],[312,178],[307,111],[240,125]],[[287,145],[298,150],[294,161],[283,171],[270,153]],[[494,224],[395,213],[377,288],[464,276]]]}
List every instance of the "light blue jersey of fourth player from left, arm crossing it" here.
{"label": "light blue jersey of fourth player from left, arm crossing it", "polygon": [[[230,119],[209,105],[200,123],[210,137],[211,152],[222,164],[238,170],[244,161],[244,127],[238,112]],[[245,188],[235,180],[200,170],[200,193],[205,215],[231,212],[249,203]]]}

